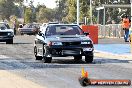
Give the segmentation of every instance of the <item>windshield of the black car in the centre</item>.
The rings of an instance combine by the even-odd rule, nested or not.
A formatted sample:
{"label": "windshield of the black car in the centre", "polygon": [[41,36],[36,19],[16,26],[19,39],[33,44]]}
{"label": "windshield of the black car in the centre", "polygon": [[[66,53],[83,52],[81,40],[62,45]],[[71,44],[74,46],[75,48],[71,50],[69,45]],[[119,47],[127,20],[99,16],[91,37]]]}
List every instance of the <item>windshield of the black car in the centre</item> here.
{"label": "windshield of the black car in the centre", "polygon": [[82,35],[83,31],[77,25],[49,25],[46,36],[51,35]]}

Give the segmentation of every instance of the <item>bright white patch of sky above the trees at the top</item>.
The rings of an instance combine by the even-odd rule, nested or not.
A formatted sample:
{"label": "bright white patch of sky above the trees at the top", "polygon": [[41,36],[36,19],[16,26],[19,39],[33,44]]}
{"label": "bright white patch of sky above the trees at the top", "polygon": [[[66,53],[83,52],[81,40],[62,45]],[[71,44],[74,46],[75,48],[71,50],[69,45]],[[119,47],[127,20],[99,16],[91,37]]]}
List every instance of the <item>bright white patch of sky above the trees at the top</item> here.
{"label": "bright white patch of sky above the trees at the top", "polygon": [[[27,0],[30,2],[31,0]],[[40,4],[45,4],[47,8],[55,8],[56,7],[56,0],[33,0],[34,1],[34,6],[37,6],[38,3]],[[25,0],[26,3],[26,0]],[[27,5],[27,4],[26,4]]]}

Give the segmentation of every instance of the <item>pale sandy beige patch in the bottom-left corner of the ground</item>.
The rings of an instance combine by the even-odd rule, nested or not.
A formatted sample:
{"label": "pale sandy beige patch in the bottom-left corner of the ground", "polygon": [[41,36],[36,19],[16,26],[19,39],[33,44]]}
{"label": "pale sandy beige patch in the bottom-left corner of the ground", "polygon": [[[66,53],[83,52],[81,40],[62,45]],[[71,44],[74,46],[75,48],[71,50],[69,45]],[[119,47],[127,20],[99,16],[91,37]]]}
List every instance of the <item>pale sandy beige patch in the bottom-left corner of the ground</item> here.
{"label": "pale sandy beige patch in the bottom-left corner of the ground", "polygon": [[46,88],[19,77],[6,70],[0,70],[0,88]]}

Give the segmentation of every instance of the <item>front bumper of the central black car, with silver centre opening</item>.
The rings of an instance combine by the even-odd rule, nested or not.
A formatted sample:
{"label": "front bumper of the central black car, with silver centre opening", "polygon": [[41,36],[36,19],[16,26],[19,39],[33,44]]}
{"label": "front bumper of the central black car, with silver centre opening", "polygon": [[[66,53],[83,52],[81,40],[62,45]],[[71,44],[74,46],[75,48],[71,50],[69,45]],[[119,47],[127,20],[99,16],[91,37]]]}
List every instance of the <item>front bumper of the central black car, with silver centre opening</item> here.
{"label": "front bumper of the central black car, with silver centre opening", "polygon": [[93,56],[93,45],[50,46],[47,47],[51,56]]}

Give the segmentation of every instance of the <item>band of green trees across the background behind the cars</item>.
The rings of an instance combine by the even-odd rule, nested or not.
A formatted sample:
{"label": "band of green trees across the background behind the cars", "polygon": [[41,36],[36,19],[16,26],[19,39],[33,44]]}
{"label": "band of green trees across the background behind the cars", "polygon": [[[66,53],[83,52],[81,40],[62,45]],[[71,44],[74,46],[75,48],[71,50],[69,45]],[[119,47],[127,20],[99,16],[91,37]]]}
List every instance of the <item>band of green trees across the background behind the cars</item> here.
{"label": "band of green trees across the background behind the cars", "polygon": [[[47,8],[45,5],[38,4],[33,6],[30,1],[28,6],[23,4],[24,0],[0,0],[0,19],[14,20],[24,18],[24,23],[58,21],[64,23],[75,23],[77,13],[77,0],[56,0],[56,8]],[[90,0],[79,0],[80,2],[80,22],[90,22]],[[102,4],[130,4],[130,0],[92,0],[92,21],[97,23],[96,8]],[[106,8],[106,24],[114,21],[120,23],[121,16],[130,16],[130,8]],[[103,10],[99,12],[99,23],[103,23]]]}

